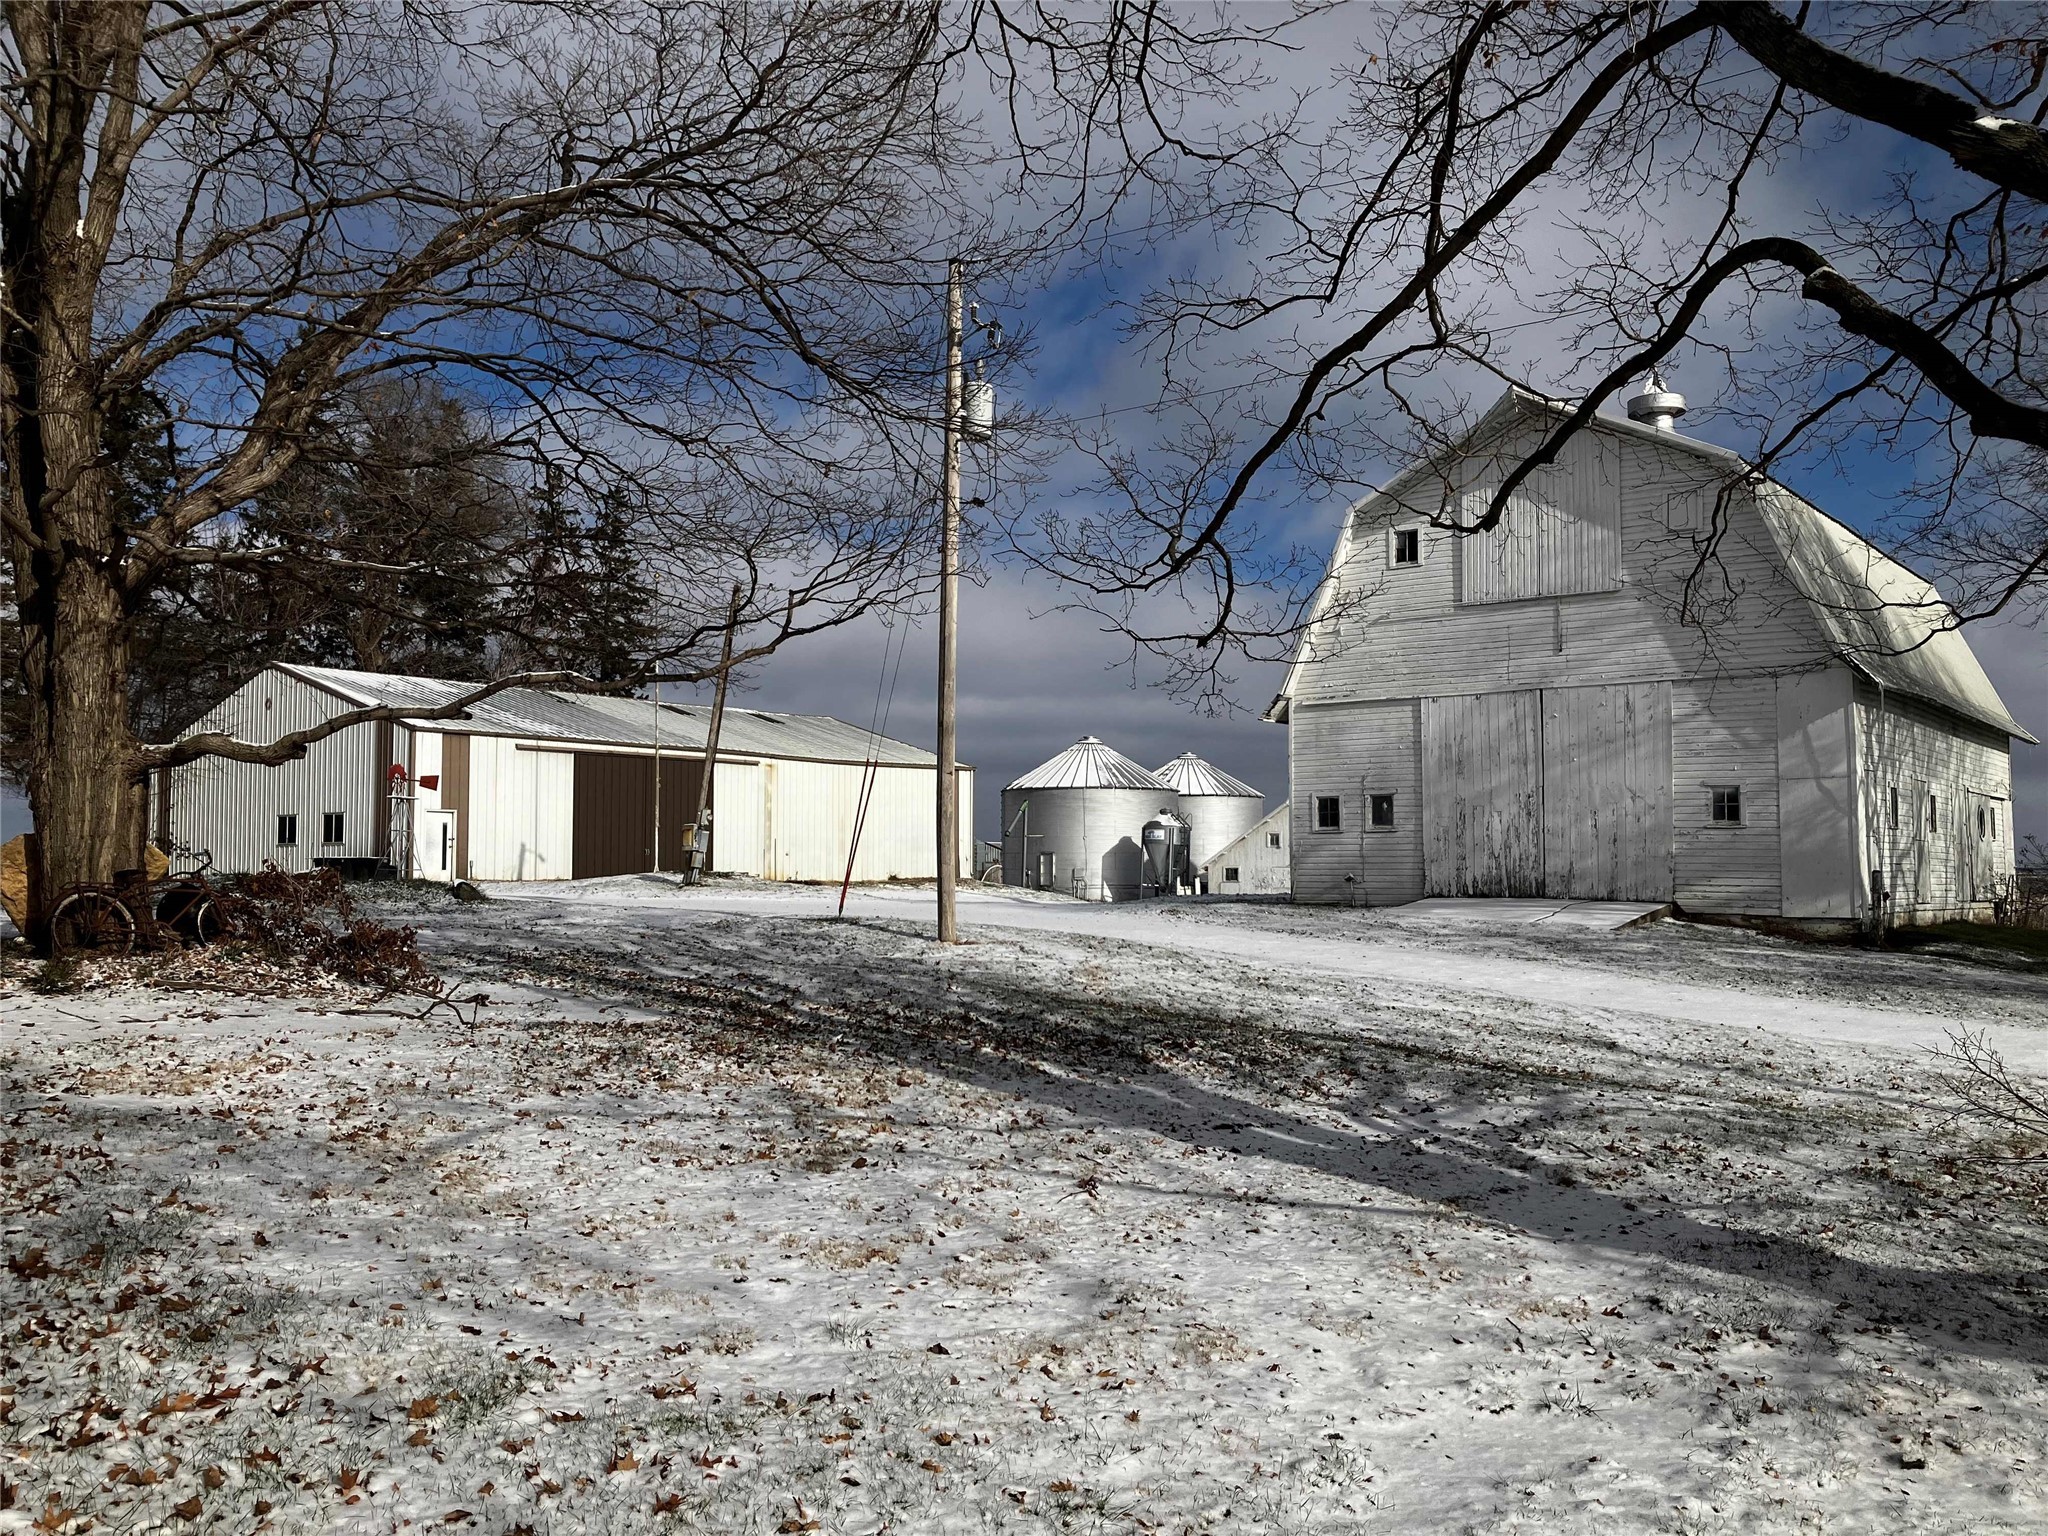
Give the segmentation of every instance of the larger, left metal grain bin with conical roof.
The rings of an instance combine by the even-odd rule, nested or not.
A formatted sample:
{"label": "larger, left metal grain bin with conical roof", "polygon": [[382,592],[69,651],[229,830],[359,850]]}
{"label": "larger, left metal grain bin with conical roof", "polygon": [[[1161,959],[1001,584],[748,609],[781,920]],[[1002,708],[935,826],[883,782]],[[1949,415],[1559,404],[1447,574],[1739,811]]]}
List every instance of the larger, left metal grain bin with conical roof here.
{"label": "larger, left metal grain bin with conical roof", "polygon": [[1143,764],[1083,735],[1004,791],[1004,885],[1135,901],[1145,823],[1174,809],[1174,791]]}

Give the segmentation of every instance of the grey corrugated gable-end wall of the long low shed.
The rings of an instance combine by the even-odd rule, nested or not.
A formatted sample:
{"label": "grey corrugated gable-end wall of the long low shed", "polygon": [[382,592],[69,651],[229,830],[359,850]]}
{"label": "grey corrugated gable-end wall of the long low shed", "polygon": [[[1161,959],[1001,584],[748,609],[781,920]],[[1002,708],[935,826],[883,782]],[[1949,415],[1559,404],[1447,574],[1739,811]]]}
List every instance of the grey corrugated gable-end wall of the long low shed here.
{"label": "grey corrugated gable-end wall of the long low shed", "polygon": [[[346,705],[287,672],[260,672],[223,698],[195,731],[227,731],[240,741],[272,741],[319,725]],[[315,858],[375,858],[383,852],[383,768],[375,727],[340,731],[307,748],[297,762],[262,764],[201,758],[168,774],[168,823],[174,868],[190,868],[199,850],[223,870],[266,862],[303,872]],[[162,778],[162,776],[160,776]],[[152,784],[164,797],[162,782]],[[342,840],[322,842],[322,815],[342,813]],[[299,817],[297,846],[276,842],[281,815]],[[190,852],[184,852],[190,850]]]}

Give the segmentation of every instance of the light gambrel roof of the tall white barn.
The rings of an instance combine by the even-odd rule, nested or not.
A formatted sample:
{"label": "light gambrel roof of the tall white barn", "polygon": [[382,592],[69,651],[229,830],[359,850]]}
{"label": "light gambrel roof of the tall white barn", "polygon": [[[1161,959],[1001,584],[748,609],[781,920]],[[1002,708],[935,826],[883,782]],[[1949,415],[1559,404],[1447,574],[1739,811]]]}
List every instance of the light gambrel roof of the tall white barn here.
{"label": "light gambrel roof of the tall white barn", "polygon": [[[1450,455],[1468,453],[1483,438],[1505,432],[1518,418],[1540,416],[1556,422],[1569,414],[1571,406],[1563,401],[1509,385],[1507,393],[1479,418]],[[1933,582],[1907,569],[1798,492],[1759,475],[1739,453],[1683,432],[1663,432],[1616,416],[1595,416],[1589,426],[1706,459],[1729,475],[1745,479],[1755,489],[1763,526],[1778,545],[1786,578],[1812,608],[1833,653],[1866,678],[2021,741],[2038,741],[2005,709],[2005,700],[1985,676],[1970,641],[1956,629],[1956,610],[1942,598]],[[1413,479],[1440,467],[1446,455],[1434,455],[1417,461],[1378,492],[1354,502],[1346,510],[1331,569],[1335,571],[1343,563],[1360,508],[1380,498],[1397,498]],[[1327,586],[1317,596],[1317,608],[1325,596]],[[1307,643],[1305,637],[1303,645]],[[1298,670],[1300,655],[1296,653],[1278,698],[1266,713],[1268,719],[1286,717]]]}

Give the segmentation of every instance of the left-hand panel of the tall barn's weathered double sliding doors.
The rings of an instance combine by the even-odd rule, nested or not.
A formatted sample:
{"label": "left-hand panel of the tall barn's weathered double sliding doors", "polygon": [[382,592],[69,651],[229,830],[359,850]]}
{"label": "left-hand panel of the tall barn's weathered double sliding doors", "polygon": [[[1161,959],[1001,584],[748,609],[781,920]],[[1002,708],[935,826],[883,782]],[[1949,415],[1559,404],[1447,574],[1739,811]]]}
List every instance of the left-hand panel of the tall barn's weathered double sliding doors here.
{"label": "left-hand panel of the tall barn's weathered double sliding doors", "polygon": [[1540,698],[1421,700],[1423,895],[1542,893]]}

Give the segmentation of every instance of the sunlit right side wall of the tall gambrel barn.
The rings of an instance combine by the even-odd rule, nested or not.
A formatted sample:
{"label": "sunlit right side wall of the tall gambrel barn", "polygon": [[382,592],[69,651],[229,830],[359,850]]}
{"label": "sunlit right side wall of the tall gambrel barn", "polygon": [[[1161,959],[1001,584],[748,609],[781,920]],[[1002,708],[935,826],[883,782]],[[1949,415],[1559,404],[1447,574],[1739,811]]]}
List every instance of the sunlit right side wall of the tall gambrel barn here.
{"label": "sunlit right side wall of the tall gambrel barn", "polygon": [[1993,893],[2013,874],[2013,782],[2003,737],[1913,698],[1880,698],[1874,684],[1858,680],[1855,739],[1866,858],[1884,870],[1894,915],[1989,915]]}

